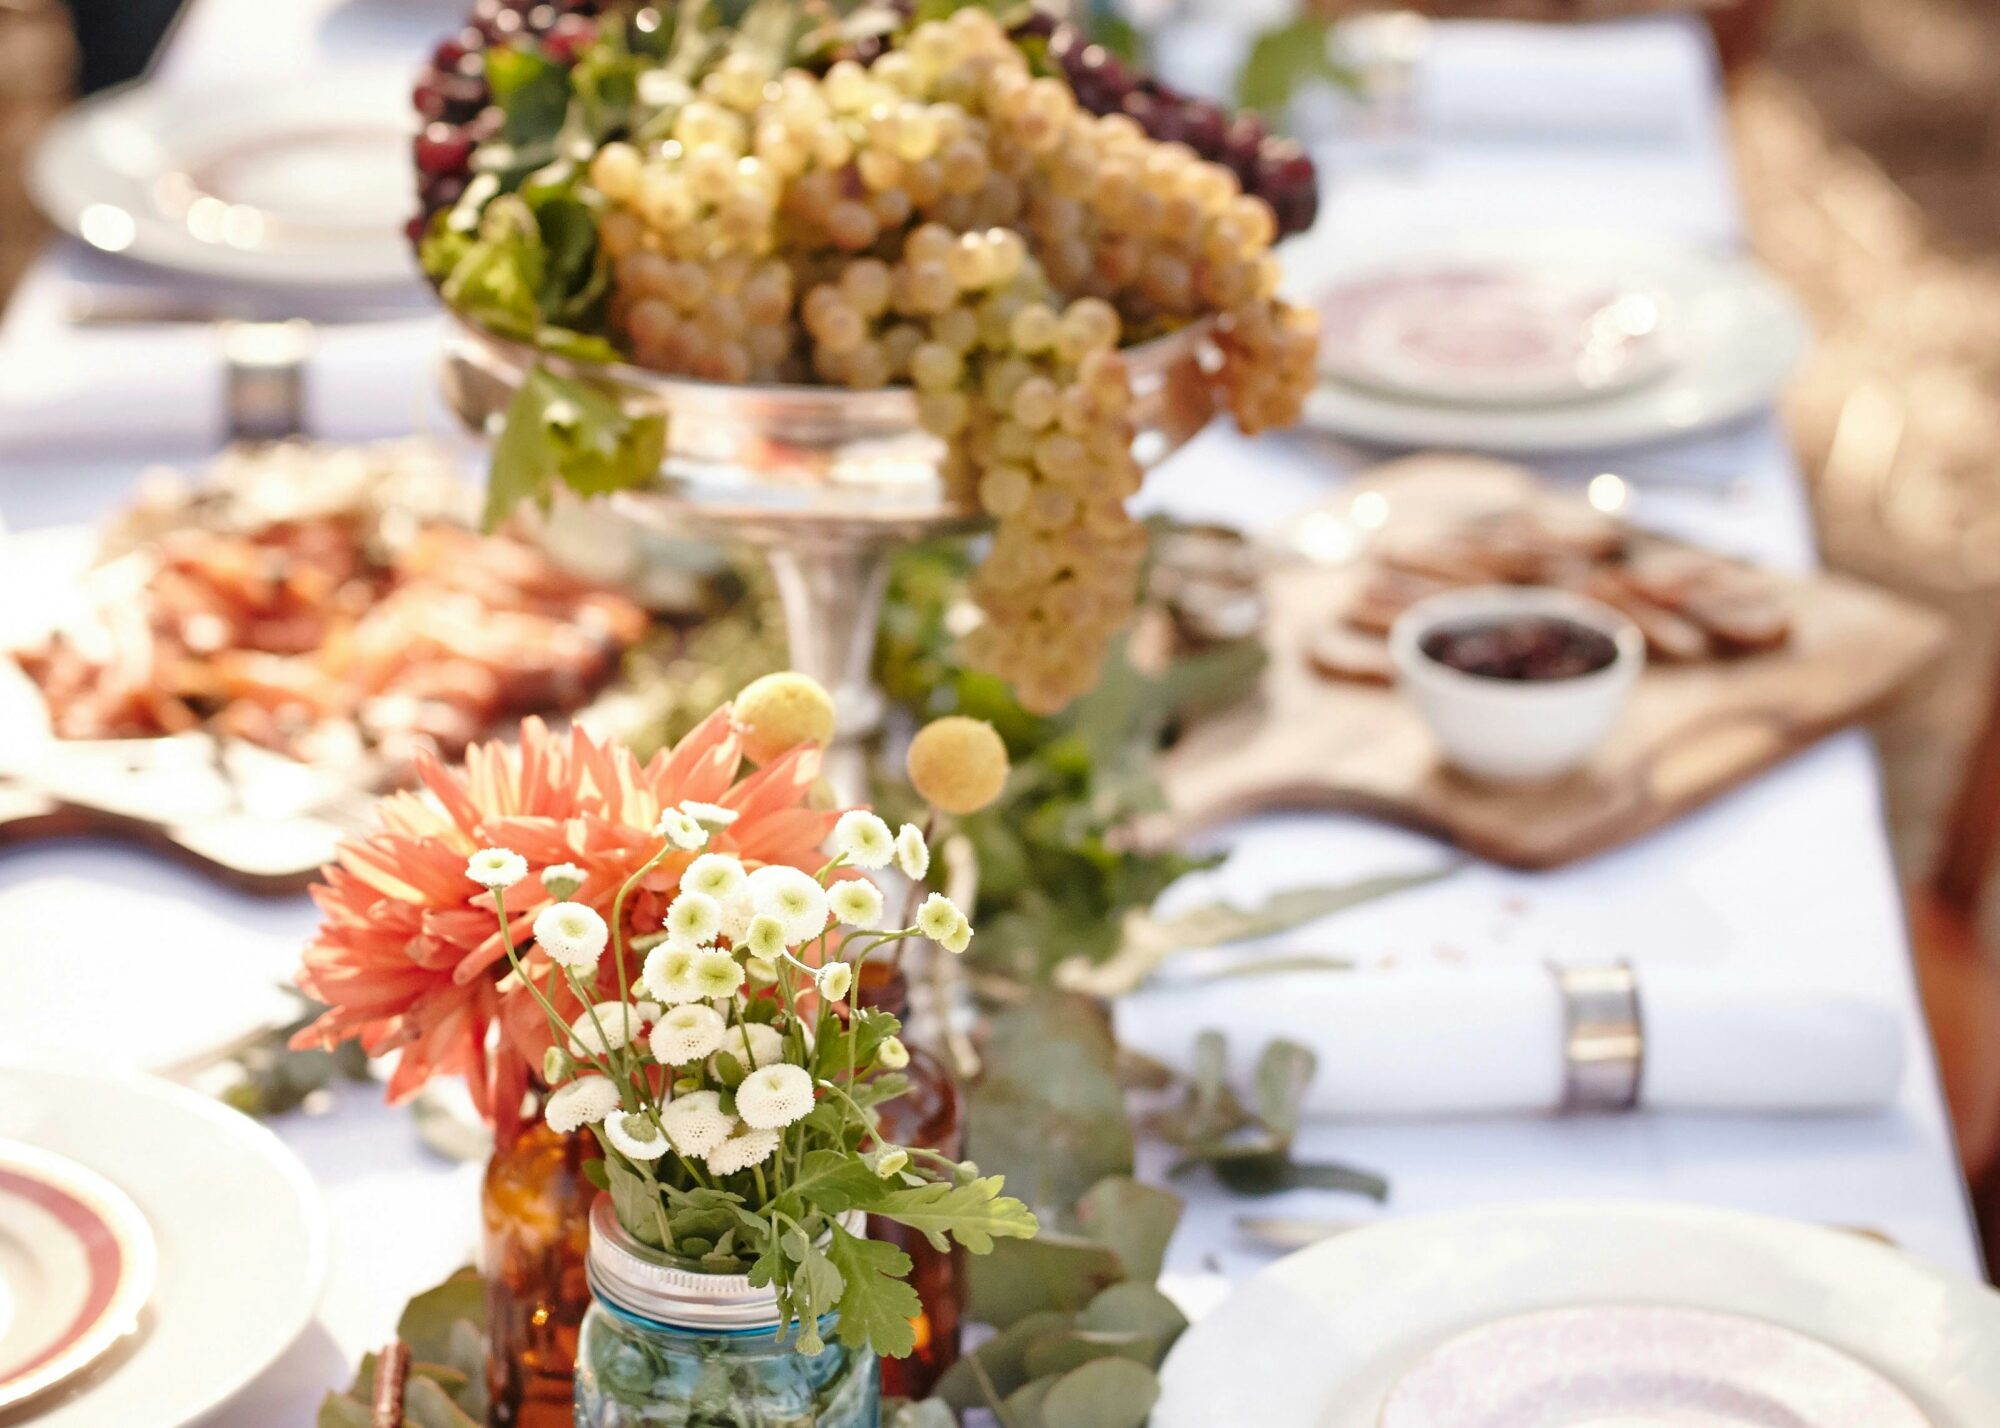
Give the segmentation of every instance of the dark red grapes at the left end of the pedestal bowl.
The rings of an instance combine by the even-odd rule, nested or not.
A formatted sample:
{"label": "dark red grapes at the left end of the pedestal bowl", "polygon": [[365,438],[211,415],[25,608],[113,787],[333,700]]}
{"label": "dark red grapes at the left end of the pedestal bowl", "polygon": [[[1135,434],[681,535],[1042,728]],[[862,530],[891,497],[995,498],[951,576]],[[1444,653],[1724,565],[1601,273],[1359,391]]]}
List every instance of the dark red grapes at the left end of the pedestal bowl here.
{"label": "dark red grapes at the left end of the pedestal bowl", "polygon": [[466,28],[440,40],[416,80],[412,100],[424,128],[416,136],[416,196],[410,240],[430,216],[450,208],[472,178],[472,150],[500,132],[486,82],[486,50],[532,40],[558,64],[572,64],[598,38],[600,0],[478,0]]}

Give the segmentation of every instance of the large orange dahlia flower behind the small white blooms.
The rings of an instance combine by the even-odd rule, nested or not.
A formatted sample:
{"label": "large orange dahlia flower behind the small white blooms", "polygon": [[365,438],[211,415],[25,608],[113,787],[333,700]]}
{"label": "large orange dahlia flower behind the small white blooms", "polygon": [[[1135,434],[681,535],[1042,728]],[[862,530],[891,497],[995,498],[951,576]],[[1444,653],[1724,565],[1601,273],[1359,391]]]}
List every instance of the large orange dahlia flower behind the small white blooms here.
{"label": "large orange dahlia flower behind the small white blooms", "polygon": [[[292,1044],[360,1038],[370,1056],[400,1052],[392,1102],[408,1100],[432,1076],[464,1076],[480,1114],[502,1136],[512,1134],[550,1030],[508,966],[494,894],[466,878],[466,858],[500,846],[526,858],[532,874],[574,864],[584,884],[570,900],[610,920],[618,888],[660,850],[660,812],[696,800],[736,812],[736,822],[712,834],[710,850],[732,852],[750,868],[820,868],[820,848],[840,816],[838,808],[806,806],[820,750],[800,746],[738,778],[742,762],[728,706],[646,764],[578,728],[552,734],[536,718],[522,722],[518,746],[474,744],[458,768],[420,760],[420,788],[388,794],[382,830],[344,840],[312,888],[324,918],[298,984],[328,1010]],[[626,946],[660,930],[692,860],[670,854],[632,890]],[[506,900],[510,936],[528,974],[554,988],[556,1008],[576,1016],[582,1004],[560,978],[550,982],[530,930],[550,902],[538,876],[516,884]],[[610,956],[596,976],[598,994],[616,996]],[[626,984],[636,978],[628,956]]]}

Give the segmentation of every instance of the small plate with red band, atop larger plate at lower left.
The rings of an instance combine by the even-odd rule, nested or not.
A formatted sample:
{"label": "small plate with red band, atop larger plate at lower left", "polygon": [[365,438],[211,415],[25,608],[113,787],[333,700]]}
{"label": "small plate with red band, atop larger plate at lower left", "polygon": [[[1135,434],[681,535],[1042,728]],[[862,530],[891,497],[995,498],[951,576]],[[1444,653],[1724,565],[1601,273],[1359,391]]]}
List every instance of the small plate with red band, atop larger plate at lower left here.
{"label": "small plate with red band, atop larger plate at lower left", "polygon": [[154,1274],[152,1228],[124,1190],[0,1140],[0,1408],[116,1348],[138,1328]]}

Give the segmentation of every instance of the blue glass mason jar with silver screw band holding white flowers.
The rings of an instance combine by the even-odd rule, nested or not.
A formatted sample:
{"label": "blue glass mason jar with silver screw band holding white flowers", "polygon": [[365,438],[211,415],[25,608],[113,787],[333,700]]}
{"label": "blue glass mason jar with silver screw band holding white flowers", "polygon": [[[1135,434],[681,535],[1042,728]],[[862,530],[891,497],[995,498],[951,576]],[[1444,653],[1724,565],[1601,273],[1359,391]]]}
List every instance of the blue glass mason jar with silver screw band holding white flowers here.
{"label": "blue glass mason jar with silver screw band holding white flowers", "polygon": [[778,1302],[742,1274],[706,1274],[590,1208],[590,1308],[576,1344],[576,1428],[880,1428],[872,1350],[820,1320],[826,1350],[780,1342]]}

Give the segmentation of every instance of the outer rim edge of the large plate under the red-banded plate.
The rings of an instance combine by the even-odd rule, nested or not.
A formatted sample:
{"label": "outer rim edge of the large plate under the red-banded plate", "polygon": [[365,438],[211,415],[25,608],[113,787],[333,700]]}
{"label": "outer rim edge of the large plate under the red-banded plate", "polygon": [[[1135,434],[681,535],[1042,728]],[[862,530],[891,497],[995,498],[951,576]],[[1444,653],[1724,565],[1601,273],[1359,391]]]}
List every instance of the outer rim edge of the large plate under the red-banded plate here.
{"label": "outer rim edge of the large plate under the red-banded plate", "polygon": [[[10,1076],[48,1078],[48,1080],[68,1078],[72,1082],[92,1082],[96,1086],[122,1090],[136,1098],[154,1098],[168,1102],[198,1120],[206,1120],[220,1134],[232,1136],[240,1140],[244,1146],[252,1148],[258,1154],[258,1158],[264,1160],[264,1164],[270,1166],[286,1182],[292,1194],[298,1196],[302,1228],[306,1232],[306,1254],[300,1266],[300,1274],[296,1278],[298,1294],[294,1296],[290,1306],[288,1308],[266,1306],[266,1314],[262,1316],[278,1324],[278,1330],[272,1338],[272,1348],[262,1360],[258,1362],[244,1360],[230,1374],[218,1376],[214,1386],[204,1394],[200,1394],[198,1400],[190,1402],[178,1416],[170,1420],[168,1418],[154,1420],[152,1424],[148,1424],[148,1428],[188,1428],[190,1424],[204,1420],[208,1414],[222,1408],[226,1402],[236,1398],[236,1394],[240,1394],[244,1388],[256,1382],[256,1378],[262,1376],[272,1364],[284,1358],[284,1354],[290,1352],[294,1344],[298,1344],[300,1336],[306,1332],[306,1328],[318,1314],[320,1300],[326,1294],[326,1282],[332,1268],[332,1230],[326,1212],[324,1192],[312,1178],[312,1172],[306,1170],[306,1164],[298,1158],[298,1154],[290,1146],[286,1146],[284,1140],[280,1140],[276,1132],[272,1132],[268,1126],[252,1120],[240,1110],[224,1106],[220,1100],[212,1096],[204,1096],[202,1092],[178,1086],[160,1076],[148,1076],[142,1072],[96,1070],[96,1068],[76,1070],[70,1066],[54,1066],[48,1060],[0,1060],[0,1080],[6,1080]],[[96,1170],[96,1166],[86,1166],[86,1168]],[[144,1188],[140,1188],[140,1194],[132,1198],[134,1202],[142,1202]],[[140,1204],[140,1210],[144,1212],[144,1204]],[[158,1226],[154,1226],[154,1232],[158,1236]],[[88,1394],[90,1390],[86,1388],[82,1396],[74,1400],[64,1400],[60,1406],[68,1406],[70,1402],[84,1404],[88,1402]]]}

